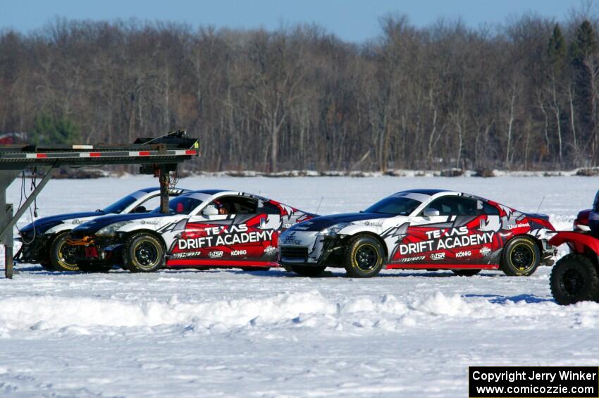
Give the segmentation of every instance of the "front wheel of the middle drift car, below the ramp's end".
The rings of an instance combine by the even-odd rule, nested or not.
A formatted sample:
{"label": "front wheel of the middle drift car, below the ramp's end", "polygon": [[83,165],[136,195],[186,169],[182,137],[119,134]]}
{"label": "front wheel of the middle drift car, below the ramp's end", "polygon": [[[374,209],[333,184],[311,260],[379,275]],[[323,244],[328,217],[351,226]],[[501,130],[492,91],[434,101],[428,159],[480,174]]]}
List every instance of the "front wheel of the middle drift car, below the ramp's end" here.
{"label": "front wheel of the middle drift car, below the ramp's end", "polygon": [[123,249],[125,267],[131,272],[154,272],[164,266],[162,242],[147,232],[132,235]]}

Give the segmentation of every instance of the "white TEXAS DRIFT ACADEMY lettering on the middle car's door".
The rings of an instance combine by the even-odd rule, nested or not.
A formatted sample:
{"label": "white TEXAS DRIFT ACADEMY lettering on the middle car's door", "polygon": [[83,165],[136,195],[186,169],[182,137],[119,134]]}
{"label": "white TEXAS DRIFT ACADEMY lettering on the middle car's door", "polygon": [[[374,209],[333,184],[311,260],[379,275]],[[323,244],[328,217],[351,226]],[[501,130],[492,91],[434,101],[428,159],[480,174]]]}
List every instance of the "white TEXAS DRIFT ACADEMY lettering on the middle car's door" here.
{"label": "white TEXAS DRIFT ACADEMY lettering on the middle car's door", "polygon": [[220,227],[206,228],[206,236],[179,239],[177,244],[180,250],[202,249],[202,247],[231,246],[233,244],[246,244],[272,240],[273,230],[247,231],[247,225],[223,225]]}

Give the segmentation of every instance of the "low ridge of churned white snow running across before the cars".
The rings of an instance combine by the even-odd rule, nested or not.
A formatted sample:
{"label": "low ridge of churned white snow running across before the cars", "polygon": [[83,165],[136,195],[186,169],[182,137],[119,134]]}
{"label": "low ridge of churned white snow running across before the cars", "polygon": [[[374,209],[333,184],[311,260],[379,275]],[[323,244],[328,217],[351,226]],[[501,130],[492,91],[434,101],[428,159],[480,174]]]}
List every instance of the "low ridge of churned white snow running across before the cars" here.
{"label": "low ridge of churned white snow running across before the cars", "polygon": [[[535,302],[537,301],[537,302]],[[297,328],[324,330],[381,328],[397,331],[436,323],[437,318],[570,318],[572,327],[593,328],[599,304],[561,307],[548,299],[500,296],[462,297],[435,292],[401,301],[392,294],[378,299],[327,299],[317,290],[276,294],[261,299],[180,302],[176,296],[161,301],[116,301],[80,297],[24,296],[3,300],[0,335],[18,330],[92,334],[94,328],[153,328],[227,332],[240,328]],[[288,331],[290,335],[292,331]]]}

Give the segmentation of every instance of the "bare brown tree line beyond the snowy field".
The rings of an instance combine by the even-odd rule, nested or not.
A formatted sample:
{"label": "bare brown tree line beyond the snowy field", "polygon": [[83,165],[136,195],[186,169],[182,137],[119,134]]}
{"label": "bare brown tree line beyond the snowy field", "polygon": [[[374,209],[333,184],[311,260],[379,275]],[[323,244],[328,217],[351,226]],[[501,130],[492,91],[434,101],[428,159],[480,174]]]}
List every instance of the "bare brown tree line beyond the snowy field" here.
{"label": "bare brown tree line beyond the snowy field", "polygon": [[597,27],[388,15],[356,44],[318,25],[57,19],[0,31],[0,132],[128,143],[186,128],[197,170],[595,166]]}

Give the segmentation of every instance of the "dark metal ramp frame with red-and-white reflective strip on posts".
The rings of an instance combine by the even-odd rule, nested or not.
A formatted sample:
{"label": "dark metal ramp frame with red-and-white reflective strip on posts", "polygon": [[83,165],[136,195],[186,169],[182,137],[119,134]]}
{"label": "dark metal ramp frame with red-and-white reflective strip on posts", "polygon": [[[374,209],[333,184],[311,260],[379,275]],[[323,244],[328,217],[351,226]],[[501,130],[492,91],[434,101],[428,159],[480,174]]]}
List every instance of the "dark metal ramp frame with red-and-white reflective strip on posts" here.
{"label": "dark metal ramp frame with red-and-white reflective strip on posts", "polygon": [[[13,277],[13,227],[61,166],[142,165],[141,172],[154,174],[160,183],[160,204],[168,212],[168,180],[178,163],[199,156],[199,142],[177,130],[163,137],[138,138],[129,145],[26,145],[0,148],[0,244],[4,245],[4,275]],[[44,178],[13,215],[13,204],[6,203],[6,189],[26,168],[46,168]],[[6,209],[4,212],[1,209]]]}

